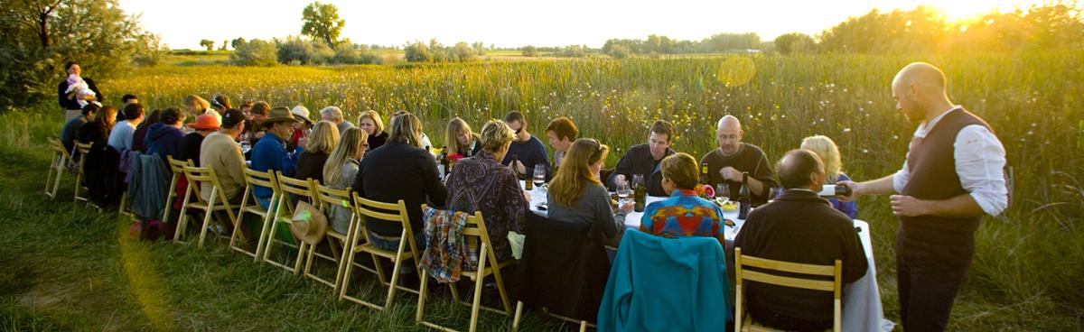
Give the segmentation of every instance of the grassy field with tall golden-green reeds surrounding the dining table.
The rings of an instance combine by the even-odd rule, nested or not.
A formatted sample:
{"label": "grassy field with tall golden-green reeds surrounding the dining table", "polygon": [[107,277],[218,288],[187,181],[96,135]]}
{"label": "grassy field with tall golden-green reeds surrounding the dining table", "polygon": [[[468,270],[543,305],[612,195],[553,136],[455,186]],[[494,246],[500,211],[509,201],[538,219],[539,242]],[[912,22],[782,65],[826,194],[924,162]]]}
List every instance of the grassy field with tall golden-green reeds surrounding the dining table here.
{"label": "grassy field with tall golden-green reeds surrounding the dining table", "polygon": [[[825,134],[840,146],[846,171],[867,180],[903,161],[914,124],[893,110],[889,83],[913,61],[945,68],[950,95],[991,123],[1012,175],[1011,207],[1002,217],[986,217],[979,230],[950,330],[1084,329],[1084,91],[1077,84],[1084,81],[1084,53],[164,66],[99,87],[108,96],[136,93],[151,108],[179,104],[188,94],[224,93],[235,103],[302,103],[313,111],[336,105],[350,118],[365,109],[405,109],[423,119],[435,140],[456,116],[478,127],[518,109],[535,134],[549,119],[569,116],[581,135],[611,146],[610,165],[643,143],[658,118],[679,129],[675,149],[701,156],[714,145],[714,121],[733,114],[744,121],[746,142],[773,159],[804,136]],[[336,304],[314,283],[254,265],[220,243],[195,250],[132,242],[114,215],[48,201],[40,194],[48,164],[43,142],[59,132],[61,119],[50,107],[0,116],[0,225],[7,229],[0,236],[0,327],[414,329],[415,297],[382,314]],[[886,316],[898,320],[895,218],[885,198],[860,201],[860,218],[873,227]],[[457,315],[451,311],[443,315]],[[531,319],[533,328],[558,327]],[[503,329],[511,320],[488,317],[486,323],[486,330]]]}

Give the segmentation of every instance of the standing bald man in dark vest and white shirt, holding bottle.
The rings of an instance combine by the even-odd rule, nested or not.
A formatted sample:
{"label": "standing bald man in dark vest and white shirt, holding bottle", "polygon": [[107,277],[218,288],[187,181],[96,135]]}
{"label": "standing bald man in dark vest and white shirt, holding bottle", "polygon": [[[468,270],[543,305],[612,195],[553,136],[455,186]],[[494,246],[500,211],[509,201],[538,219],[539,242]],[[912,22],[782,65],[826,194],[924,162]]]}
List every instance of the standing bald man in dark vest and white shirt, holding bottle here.
{"label": "standing bald man in dark vest and white shirt, holding bottle", "polygon": [[895,108],[920,122],[899,172],[863,183],[853,194],[892,195],[896,282],[904,331],[944,331],[971,265],[983,214],[1008,205],[1005,148],[985,121],[954,105],[938,67],[914,63],[892,80]]}

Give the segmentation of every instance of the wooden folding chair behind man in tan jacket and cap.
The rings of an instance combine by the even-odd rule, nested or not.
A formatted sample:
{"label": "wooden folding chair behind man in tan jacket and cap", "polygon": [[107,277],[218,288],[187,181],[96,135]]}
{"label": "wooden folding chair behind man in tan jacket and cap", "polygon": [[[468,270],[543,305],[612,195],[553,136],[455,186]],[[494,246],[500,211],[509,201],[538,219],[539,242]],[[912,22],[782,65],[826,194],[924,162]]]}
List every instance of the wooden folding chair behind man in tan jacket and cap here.
{"label": "wooden folding chair behind man in tan jacket and cap", "polygon": [[[203,248],[204,238],[207,237],[207,228],[210,227],[215,212],[225,211],[232,225],[237,224],[237,218],[233,214],[233,207],[230,207],[225,191],[222,190],[222,185],[218,182],[215,169],[184,167],[182,170],[189,180],[189,188],[184,190],[184,203],[181,205],[181,215],[177,222],[177,231],[173,233],[173,241],[182,242],[181,236],[184,235],[189,224],[189,209],[201,210],[204,213],[204,222],[203,226],[199,227],[199,244],[196,247]],[[206,185],[210,185],[210,199],[204,200],[201,194],[202,190],[207,190]],[[195,194],[195,200],[192,200],[192,194]],[[220,223],[218,229],[218,233],[221,233],[227,229],[227,225]]]}

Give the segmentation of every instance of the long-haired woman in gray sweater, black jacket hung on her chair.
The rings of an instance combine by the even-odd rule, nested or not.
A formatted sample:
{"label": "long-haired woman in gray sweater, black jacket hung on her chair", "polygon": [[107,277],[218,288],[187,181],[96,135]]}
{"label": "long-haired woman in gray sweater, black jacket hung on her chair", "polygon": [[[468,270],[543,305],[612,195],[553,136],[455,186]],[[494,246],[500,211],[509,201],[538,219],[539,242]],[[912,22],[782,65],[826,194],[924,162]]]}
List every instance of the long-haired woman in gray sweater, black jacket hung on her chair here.
{"label": "long-haired woman in gray sweater, black jacket hung on her chair", "polygon": [[624,230],[624,216],[632,212],[632,203],[625,203],[616,213],[610,209],[609,192],[598,180],[607,154],[609,147],[594,138],[572,143],[557,175],[550,182],[549,217],[593,224],[606,238],[616,240]]}

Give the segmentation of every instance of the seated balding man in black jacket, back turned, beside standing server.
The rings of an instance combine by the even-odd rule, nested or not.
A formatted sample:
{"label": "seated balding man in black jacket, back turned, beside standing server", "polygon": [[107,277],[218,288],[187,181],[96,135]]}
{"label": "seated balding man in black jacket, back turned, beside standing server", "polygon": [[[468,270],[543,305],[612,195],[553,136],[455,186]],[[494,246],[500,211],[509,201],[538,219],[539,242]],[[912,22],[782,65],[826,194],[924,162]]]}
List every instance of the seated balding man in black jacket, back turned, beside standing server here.
{"label": "seated balding man in black jacket, back turned, beside standing server", "polygon": [[[734,247],[761,258],[833,265],[843,263],[843,283],[859,280],[868,264],[851,217],[817,196],[827,175],[821,157],[811,150],[791,150],[775,168],[786,191],[771,203],[749,212]],[[750,282],[746,307],[757,322],[786,331],[831,329],[833,295]]]}

